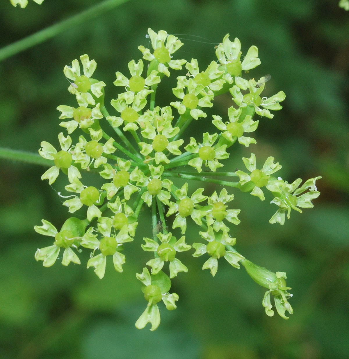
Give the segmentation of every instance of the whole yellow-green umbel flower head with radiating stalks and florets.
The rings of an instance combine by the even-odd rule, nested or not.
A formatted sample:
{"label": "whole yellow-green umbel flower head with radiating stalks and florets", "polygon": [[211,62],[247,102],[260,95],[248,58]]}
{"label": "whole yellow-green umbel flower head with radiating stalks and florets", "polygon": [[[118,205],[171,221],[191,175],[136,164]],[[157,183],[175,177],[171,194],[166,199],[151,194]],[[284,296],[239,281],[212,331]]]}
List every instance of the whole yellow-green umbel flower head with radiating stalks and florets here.
{"label": "whole yellow-green umbel flower head with radiating stalks and florets", "polygon": [[[249,147],[256,143],[250,137],[259,123],[255,115],[272,118],[270,111],[282,108],[285,94],[280,91],[263,97],[268,75],[258,81],[243,77],[245,71],[260,64],[256,46],[243,56],[239,39],[231,41],[227,34],[216,46],[217,58],[201,69],[196,59],[176,59],[175,52],[183,45],[177,37],[151,29],[148,34],[151,48],[139,46],[142,59],[128,63],[130,74],[116,73],[114,85],[121,92],[112,99],[110,114],[104,105],[105,83],[93,77],[95,60],[82,55],[82,68],[78,60],[64,67],[64,75],[71,82],[68,90],[75,95],[77,105],[57,107],[64,132],[58,135],[59,149],[41,143],[40,155],[53,161],[41,178],[51,185],[60,173],[67,176],[68,193],[63,205],[69,213],[83,208],[86,219],[72,216],[60,230],[43,219],[42,225],[34,229],[54,237],[54,242],[38,249],[35,259],[43,261],[45,267],[52,266],[59,255],[65,266],[70,262],[80,264],[79,253],[86,249],[91,253],[87,268],[93,267],[103,278],[106,261],[113,261],[115,270],[123,271],[124,246],[141,246],[145,252],[152,252],[151,259],[150,253],[145,254],[143,270],[136,274],[148,302],[136,327],[151,323],[151,330],[155,330],[160,323],[158,303],[163,301],[169,310],[176,308],[178,295],[170,293],[171,280],[179,272],[188,271],[181,252],[205,256],[203,269],[209,269],[213,276],[223,257],[235,268],[242,264],[251,278],[267,288],[262,304],[268,316],[274,314],[273,297],[278,314],[287,319],[285,312],[292,314],[293,309],[288,302],[292,294],[288,292],[286,273],[259,267],[235,250],[230,224],[240,223],[240,210],[234,209],[234,195],[229,191],[237,188],[262,201],[266,191],[272,192],[271,203],[277,210],[269,222],[282,225],[291,210],[302,213],[300,208],[313,207],[311,201],[319,196],[315,181],[321,177],[303,185],[300,178],[288,183],[275,177],[281,165],[273,157],[263,164],[254,153],[243,158],[245,168],[236,172],[220,170],[232,145],[237,142]],[[186,74],[177,76],[172,89],[174,101],[169,106],[155,106],[159,83],[180,70]],[[223,118],[208,118],[205,110],[213,107],[214,97],[223,93],[231,94],[232,106]],[[193,120],[201,121],[203,128],[204,122],[212,121],[217,130],[203,131],[185,143],[183,131]],[[75,131],[81,135],[73,144],[69,134]],[[103,178],[100,188],[83,179],[89,171]],[[217,180],[217,174],[226,180]],[[173,184],[171,178],[175,177],[183,179],[180,187]],[[191,189],[187,179],[223,187],[207,194],[204,188]],[[151,209],[153,231],[140,243],[136,233],[142,207]],[[188,222],[198,227],[193,239],[185,236]],[[173,230],[168,232],[167,228]]]}

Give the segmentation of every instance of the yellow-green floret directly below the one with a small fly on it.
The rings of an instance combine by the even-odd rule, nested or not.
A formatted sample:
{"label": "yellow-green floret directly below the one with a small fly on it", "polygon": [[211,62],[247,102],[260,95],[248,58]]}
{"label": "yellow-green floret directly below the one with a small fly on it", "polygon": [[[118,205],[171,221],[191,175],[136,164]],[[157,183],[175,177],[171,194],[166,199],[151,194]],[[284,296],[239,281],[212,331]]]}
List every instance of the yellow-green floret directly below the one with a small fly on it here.
{"label": "yellow-green floret directly below the one with a small fly on it", "polygon": [[235,139],[239,141],[241,145],[248,147],[251,143],[257,143],[253,137],[245,137],[244,132],[254,132],[257,130],[258,122],[253,121],[250,115],[246,115],[245,118],[240,121],[240,116],[243,109],[236,109],[234,107],[228,108],[229,122],[223,122],[221,116],[213,115],[213,125],[218,130],[223,131],[222,136],[228,141],[235,142]]}

